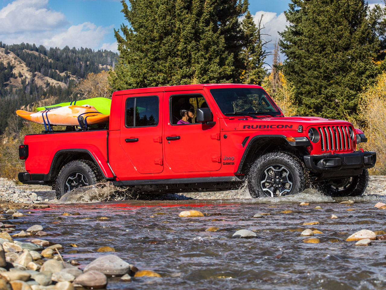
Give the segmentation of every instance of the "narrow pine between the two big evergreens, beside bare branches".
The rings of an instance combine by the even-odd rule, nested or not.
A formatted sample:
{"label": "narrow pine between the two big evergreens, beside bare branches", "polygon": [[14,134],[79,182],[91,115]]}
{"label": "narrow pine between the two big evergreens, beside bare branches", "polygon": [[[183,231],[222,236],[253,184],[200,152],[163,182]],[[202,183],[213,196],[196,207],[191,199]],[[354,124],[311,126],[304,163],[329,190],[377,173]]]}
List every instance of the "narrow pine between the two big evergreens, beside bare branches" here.
{"label": "narrow pine between the two big evergreens, beside bare branches", "polygon": [[264,41],[262,39],[263,34],[261,34],[261,30],[265,28],[261,26],[263,16],[261,15],[257,27],[249,10],[242,20],[242,29],[245,36],[245,43],[241,53],[245,65],[245,72],[242,76],[244,84],[261,85],[262,78],[266,73],[264,60],[270,52],[264,49],[269,41]]}

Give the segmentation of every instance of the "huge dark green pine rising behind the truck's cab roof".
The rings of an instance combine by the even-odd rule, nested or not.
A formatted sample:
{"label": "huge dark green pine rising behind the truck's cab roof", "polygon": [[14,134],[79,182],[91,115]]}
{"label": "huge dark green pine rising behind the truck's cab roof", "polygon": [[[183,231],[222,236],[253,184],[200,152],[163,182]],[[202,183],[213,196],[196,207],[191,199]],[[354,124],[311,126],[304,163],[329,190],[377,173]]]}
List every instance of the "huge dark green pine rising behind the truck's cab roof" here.
{"label": "huge dark green pine rising behind the truck's cab roof", "polygon": [[122,12],[131,27],[115,30],[120,59],[109,75],[113,90],[239,80],[239,17],[247,0],[129,2],[130,8],[122,1]]}

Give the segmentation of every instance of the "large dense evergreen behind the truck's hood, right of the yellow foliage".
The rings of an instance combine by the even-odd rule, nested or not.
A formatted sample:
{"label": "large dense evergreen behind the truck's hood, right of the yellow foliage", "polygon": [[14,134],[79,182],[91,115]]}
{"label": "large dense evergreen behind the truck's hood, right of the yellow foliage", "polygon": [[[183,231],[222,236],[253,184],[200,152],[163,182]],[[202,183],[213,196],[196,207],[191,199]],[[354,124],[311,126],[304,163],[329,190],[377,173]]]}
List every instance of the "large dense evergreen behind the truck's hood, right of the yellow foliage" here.
{"label": "large dense evergreen behind the truck's hood, right of the yellow foliage", "polygon": [[299,112],[328,118],[355,115],[359,92],[373,82],[379,40],[364,0],[291,0],[280,35],[284,75]]}

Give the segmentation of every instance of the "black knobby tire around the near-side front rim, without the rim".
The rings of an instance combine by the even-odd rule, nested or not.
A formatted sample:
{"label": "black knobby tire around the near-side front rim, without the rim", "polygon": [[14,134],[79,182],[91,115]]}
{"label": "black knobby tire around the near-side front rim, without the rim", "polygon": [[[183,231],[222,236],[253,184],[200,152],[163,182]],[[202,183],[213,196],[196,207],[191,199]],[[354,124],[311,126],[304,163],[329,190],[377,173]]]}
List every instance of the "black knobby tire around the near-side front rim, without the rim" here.
{"label": "black knobby tire around the near-side front rim, without the rim", "polygon": [[[274,169],[284,168],[283,171],[288,172],[288,179],[292,183],[291,186],[286,189],[289,191],[275,194],[274,190],[272,190],[273,192],[263,190],[261,182],[267,179],[266,172],[270,167],[273,167]],[[276,182],[276,178],[274,179]],[[279,181],[280,180],[282,179],[279,178]],[[271,152],[264,154],[255,160],[251,169],[249,170],[248,189],[252,198],[267,196],[272,197],[272,195],[275,197],[278,195],[296,194],[300,193],[308,187],[308,171],[298,157],[288,152]],[[276,189],[278,192],[279,190],[283,190],[284,187]]]}

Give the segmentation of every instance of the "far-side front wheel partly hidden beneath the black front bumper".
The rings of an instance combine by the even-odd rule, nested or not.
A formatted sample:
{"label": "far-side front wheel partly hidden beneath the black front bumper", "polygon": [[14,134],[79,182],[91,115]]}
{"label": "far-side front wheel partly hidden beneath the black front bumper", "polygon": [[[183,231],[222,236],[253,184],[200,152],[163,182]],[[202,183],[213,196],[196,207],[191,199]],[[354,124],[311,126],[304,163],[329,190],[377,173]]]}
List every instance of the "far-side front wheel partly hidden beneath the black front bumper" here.
{"label": "far-side front wheel partly hidden beneath the black front bumper", "polygon": [[[358,176],[346,179],[327,181],[320,186],[318,190],[323,194],[330,196],[359,196],[364,193],[369,183],[369,171],[364,169]],[[344,186],[339,187],[339,184]]]}

